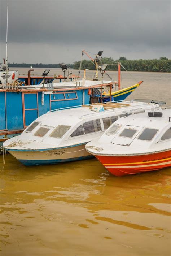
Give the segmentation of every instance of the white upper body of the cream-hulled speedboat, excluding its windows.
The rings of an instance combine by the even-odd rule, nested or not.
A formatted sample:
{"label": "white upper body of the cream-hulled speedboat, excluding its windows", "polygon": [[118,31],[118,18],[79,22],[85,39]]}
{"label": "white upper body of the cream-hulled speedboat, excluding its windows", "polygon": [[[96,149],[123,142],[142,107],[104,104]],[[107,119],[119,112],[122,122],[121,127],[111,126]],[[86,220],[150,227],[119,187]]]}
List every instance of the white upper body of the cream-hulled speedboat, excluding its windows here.
{"label": "white upper body of the cream-hulled speedboat, excluding its windows", "polygon": [[[94,111],[93,108],[99,107],[105,108],[105,110],[97,112]],[[28,131],[29,127],[32,126],[34,122],[30,124],[29,127],[26,128],[25,131],[15,139],[22,140],[26,142],[29,140],[29,146],[26,146],[28,149],[36,149],[36,148],[56,148],[62,145],[73,145],[76,143],[83,143],[91,141],[92,139],[99,138],[104,133],[104,127],[95,133],[88,133],[80,138],[80,136],[75,136],[70,138],[70,135],[77,129],[81,124],[101,118],[108,118],[113,116],[122,116],[126,115],[126,113],[132,114],[137,111],[147,111],[151,109],[160,109],[158,104],[155,103],[140,103],[140,102],[130,102],[130,101],[122,101],[121,103],[98,103],[91,105],[83,105],[82,107],[76,108],[66,108],[61,109],[60,111],[52,110],[51,112],[47,112],[46,114],[38,117],[34,122],[39,122],[31,131]],[[102,122],[102,120],[101,120]],[[49,134],[52,133],[58,126],[69,126],[69,130],[62,137],[50,137]],[[49,131],[45,136],[36,136],[34,135],[39,128],[45,128]],[[63,127],[61,128],[63,129]],[[9,139],[8,142],[4,142],[4,146],[8,147],[10,140],[14,140],[14,138]],[[23,149],[20,146],[15,146],[13,149]],[[12,149],[12,150],[13,150]]]}

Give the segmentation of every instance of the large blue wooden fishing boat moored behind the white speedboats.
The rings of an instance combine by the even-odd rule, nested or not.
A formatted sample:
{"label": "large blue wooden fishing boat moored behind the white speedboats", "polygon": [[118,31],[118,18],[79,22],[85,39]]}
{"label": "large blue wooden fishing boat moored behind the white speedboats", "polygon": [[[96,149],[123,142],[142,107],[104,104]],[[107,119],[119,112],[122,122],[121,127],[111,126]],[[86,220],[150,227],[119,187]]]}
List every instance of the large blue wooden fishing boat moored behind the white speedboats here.
{"label": "large blue wooden fishing boat moored behind the white speedboats", "polygon": [[[30,123],[48,111],[126,99],[142,81],[120,90],[120,72],[118,82],[103,80],[105,68],[99,66],[101,53],[94,60],[96,78],[93,80],[86,80],[86,70],[82,79],[69,72],[66,76],[67,65],[61,63],[59,65],[64,72],[63,76],[48,76],[49,70],[45,70],[42,76],[32,76],[33,70],[30,69],[27,76],[19,76],[19,80],[6,80],[6,83],[0,84],[0,143],[22,133]],[[101,80],[98,78],[98,70],[102,74]],[[54,82],[54,79],[58,82]],[[119,90],[114,91],[117,86]]]}

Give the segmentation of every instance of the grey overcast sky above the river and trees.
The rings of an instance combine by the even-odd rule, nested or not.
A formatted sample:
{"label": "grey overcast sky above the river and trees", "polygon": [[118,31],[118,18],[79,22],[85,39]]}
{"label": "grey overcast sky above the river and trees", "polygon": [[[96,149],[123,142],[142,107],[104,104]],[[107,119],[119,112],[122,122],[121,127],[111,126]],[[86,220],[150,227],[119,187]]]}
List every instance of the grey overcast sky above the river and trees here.
{"label": "grey overcast sky above the river and trees", "polygon": [[[0,62],[6,11],[0,0]],[[8,61],[72,63],[82,49],[114,60],[171,58],[170,13],[170,0],[9,0]]]}

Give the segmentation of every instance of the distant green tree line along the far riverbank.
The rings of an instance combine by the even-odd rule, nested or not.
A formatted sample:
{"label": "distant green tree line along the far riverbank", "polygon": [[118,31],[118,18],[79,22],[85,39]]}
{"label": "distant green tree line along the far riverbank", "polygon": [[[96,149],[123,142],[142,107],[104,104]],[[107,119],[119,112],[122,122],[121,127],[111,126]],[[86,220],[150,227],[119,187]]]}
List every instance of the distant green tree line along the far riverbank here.
{"label": "distant green tree line along the far riverbank", "polygon": [[[117,70],[118,66],[117,63],[120,61],[122,66],[128,71],[148,71],[148,72],[171,72],[171,60],[169,60],[166,57],[161,57],[159,59],[153,59],[153,60],[127,60],[126,57],[120,57],[118,60],[113,60],[113,58],[105,57],[102,58],[101,63],[102,64],[109,64],[106,68],[106,70]],[[33,68],[60,68],[59,64],[42,64],[42,63],[36,63],[36,64],[26,64],[26,63],[8,63],[9,67],[24,67],[24,68],[30,68],[32,66]],[[74,64],[68,64],[70,68],[73,69],[79,69],[80,67],[80,61],[75,61]],[[81,69],[89,69],[89,70],[95,70],[95,65],[91,60],[83,60]],[[122,70],[124,70],[122,68]]]}

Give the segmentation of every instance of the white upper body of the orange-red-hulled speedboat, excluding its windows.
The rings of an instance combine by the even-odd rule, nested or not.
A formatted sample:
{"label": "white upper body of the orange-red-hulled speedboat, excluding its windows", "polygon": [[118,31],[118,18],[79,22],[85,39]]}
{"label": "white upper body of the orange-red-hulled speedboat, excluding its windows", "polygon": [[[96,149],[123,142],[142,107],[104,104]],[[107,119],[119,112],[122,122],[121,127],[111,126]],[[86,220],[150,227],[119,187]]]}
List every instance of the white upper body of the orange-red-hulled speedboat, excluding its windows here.
{"label": "white upper body of the orange-red-hulled speedboat, excluding its windows", "polygon": [[[93,140],[86,145],[88,151],[95,155],[130,156],[170,149],[171,140],[167,139],[160,142],[160,139],[169,127],[171,127],[171,109],[161,109],[159,112],[162,112],[162,117],[149,117],[148,113],[140,113],[119,118],[106,130],[105,134],[103,134],[100,139]],[[109,130],[115,125],[121,126],[114,134],[109,134]],[[149,141],[137,139],[146,128],[158,131]],[[120,135],[124,129],[135,129],[137,131],[135,136],[133,135],[131,138],[128,138],[124,135]],[[93,146],[94,149],[89,149],[89,146]],[[97,152],[96,147],[101,147],[102,151]]]}

